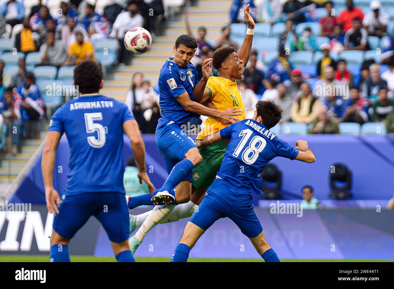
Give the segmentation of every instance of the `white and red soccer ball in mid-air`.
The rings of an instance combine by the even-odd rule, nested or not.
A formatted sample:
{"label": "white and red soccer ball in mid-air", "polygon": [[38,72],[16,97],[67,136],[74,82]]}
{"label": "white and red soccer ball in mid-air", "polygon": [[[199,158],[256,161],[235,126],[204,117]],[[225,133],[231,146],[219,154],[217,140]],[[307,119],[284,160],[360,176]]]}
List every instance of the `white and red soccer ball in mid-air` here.
{"label": "white and red soccer ball in mid-air", "polygon": [[143,54],[151,48],[152,36],[147,29],[134,27],[126,32],[125,47],[133,54]]}

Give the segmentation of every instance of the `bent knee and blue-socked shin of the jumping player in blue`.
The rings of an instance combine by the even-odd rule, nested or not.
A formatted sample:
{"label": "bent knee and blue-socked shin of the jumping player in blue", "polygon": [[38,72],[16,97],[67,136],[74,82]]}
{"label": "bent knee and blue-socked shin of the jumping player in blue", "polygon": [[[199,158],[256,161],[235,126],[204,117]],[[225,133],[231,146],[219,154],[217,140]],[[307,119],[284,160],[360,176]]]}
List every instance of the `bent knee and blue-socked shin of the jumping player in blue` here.
{"label": "bent knee and blue-socked shin of the jumping player in blue", "polygon": [[178,162],[174,168],[171,170],[171,173],[165,180],[162,188],[160,188],[159,192],[166,191],[167,193],[175,188],[188,173],[199,163],[203,161],[203,157],[200,155],[197,147],[192,147],[185,154],[185,158]]}

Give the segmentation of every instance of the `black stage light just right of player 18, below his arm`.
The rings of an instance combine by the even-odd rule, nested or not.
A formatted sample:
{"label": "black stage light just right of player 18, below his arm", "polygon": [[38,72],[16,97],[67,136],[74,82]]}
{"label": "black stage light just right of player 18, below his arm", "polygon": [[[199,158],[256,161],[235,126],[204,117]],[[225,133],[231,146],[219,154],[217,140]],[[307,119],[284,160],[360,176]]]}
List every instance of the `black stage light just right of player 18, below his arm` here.
{"label": "black stage light just right of player 18, below his arm", "polygon": [[263,179],[262,190],[264,199],[275,200],[282,198],[282,172],[274,164],[268,164],[260,174]]}

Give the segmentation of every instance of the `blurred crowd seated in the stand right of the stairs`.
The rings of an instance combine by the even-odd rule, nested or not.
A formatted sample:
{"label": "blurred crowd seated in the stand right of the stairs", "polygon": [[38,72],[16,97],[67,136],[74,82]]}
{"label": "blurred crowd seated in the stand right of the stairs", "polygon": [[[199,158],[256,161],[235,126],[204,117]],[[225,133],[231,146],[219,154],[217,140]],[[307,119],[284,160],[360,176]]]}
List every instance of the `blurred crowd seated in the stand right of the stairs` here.
{"label": "blurred crowd seated in the stand right of the stairs", "polygon": [[[235,0],[232,24],[221,28],[216,41],[205,40],[203,23],[198,29],[201,60],[221,46],[240,46],[246,30],[240,11],[250,4],[258,22],[255,49],[238,83],[247,116],[258,99],[273,99],[283,109],[281,123],[305,123],[308,133],[340,133],[340,123],[369,122],[394,133],[394,13],[385,12],[388,2],[355,2],[364,9],[353,0],[346,7],[332,1]],[[185,20],[192,34],[187,13]]]}

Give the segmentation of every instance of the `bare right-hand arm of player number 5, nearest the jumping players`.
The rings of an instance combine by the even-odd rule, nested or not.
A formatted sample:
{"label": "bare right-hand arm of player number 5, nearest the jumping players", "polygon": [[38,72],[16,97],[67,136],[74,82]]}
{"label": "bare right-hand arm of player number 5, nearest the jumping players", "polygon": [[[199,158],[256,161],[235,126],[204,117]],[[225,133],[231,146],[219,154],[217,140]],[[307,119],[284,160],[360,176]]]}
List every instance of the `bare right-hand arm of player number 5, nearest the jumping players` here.
{"label": "bare right-hand arm of player number 5, nearest the jumping players", "polygon": [[137,121],[135,120],[125,121],[123,123],[123,130],[130,138],[131,150],[133,151],[134,158],[136,159],[138,166],[139,183],[142,184],[142,180],[144,180],[148,184],[149,193],[152,194],[155,188],[146,172],[145,144],[141,137],[141,134],[139,133],[139,127]]}

